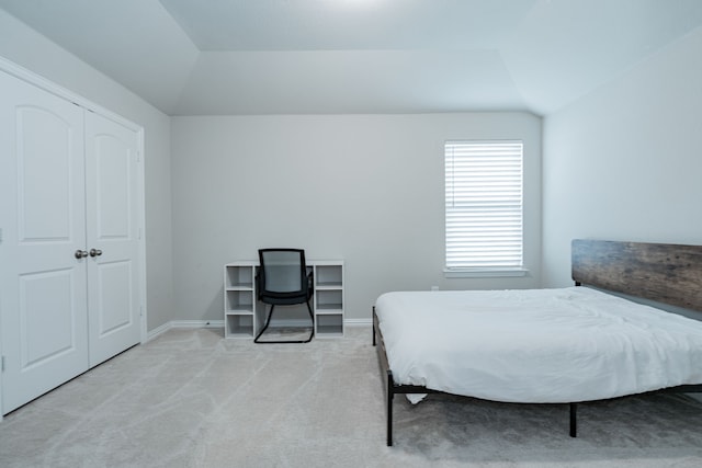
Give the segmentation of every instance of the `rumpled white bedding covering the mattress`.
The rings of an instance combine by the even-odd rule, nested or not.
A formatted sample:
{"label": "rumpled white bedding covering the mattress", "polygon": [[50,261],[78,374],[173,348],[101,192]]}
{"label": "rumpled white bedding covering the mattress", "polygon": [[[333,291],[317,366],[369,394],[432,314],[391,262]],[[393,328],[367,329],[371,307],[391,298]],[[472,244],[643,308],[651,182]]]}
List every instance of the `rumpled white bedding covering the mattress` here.
{"label": "rumpled white bedding covering the mattress", "polygon": [[587,287],[387,293],[375,312],[397,384],[556,403],[702,383],[702,322]]}

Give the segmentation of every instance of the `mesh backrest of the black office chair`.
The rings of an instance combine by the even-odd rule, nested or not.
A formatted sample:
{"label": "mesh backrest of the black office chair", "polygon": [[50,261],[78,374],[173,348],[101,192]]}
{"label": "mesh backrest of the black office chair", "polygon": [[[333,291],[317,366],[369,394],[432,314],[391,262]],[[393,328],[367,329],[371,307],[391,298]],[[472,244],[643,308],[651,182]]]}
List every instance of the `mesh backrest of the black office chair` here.
{"label": "mesh backrest of the black office chair", "polygon": [[307,265],[302,249],[259,249],[260,294],[306,294]]}

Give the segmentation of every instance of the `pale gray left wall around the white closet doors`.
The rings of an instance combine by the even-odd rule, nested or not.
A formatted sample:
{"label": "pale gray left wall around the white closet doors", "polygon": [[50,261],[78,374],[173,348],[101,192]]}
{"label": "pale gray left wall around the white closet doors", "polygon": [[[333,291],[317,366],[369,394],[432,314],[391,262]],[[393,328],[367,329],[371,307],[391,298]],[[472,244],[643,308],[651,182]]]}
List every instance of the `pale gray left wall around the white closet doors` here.
{"label": "pale gray left wall around the white closet doors", "polygon": [[171,320],[170,118],[0,10],[0,56],[144,126],[147,329]]}

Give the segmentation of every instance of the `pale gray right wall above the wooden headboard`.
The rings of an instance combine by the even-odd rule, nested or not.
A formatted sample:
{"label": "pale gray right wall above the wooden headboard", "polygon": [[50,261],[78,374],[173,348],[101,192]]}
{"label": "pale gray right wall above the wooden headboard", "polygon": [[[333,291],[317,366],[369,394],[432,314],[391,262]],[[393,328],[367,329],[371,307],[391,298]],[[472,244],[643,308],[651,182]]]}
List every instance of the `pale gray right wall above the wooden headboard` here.
{"label": "pale gray right wall above the wooden headboard", "polygon": [[573,238],[702,243],[702,28],[544,121],[543,285]]}

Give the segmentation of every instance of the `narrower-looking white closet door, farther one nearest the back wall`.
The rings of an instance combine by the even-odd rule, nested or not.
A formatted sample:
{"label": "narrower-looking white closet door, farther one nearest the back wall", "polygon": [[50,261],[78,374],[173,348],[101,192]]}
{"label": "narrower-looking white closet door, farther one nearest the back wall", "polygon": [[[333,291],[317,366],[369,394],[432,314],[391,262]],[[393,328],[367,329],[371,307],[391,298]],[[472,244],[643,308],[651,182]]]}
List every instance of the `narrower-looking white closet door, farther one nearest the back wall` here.
{"label": "narrower-looking white closet door, farther one nearest the back wall", "polygon": [[90,366],[140,340],[138,134],[86,113]]}

